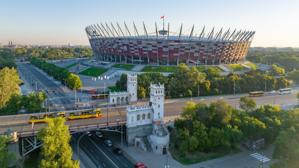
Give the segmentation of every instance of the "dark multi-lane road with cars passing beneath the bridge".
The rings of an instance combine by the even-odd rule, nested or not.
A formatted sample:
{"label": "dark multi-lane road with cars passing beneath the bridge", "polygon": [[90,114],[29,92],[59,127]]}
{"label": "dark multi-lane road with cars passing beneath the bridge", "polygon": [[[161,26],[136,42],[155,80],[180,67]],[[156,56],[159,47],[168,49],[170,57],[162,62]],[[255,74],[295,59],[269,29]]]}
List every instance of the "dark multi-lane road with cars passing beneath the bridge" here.
{"label": "dark multi-lane road with cars passing beneath the bridge", "polygon": [[[105,145],[104,141],[106,139],[104,137],[97,137],[95,132],[96,131],[91,131],[91,136],[83,135],[84,132],[72,134],[71,140],[77,144],[79,138],[83,135],[83,137],[80,139],[79,147],[83,150],[83,152],[85,152],[85,154],[96,167],[134,167],[132,161],[126,158],[125,155],[116,155],[114,152],[112,152],[115,147]],[[74,149],[74,151],[77,150],[78,148],[76,145],[76,149]]]}

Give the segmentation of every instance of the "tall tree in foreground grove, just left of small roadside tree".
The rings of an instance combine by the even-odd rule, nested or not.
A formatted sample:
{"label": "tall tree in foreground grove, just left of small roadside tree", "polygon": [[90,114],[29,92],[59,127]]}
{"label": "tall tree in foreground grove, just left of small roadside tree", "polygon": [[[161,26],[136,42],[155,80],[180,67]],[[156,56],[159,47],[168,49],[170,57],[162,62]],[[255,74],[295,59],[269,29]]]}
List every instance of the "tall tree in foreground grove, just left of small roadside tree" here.
{"label": "tall tree in foreground grove, just left of small roadside tree", "polygon": [[222,128],[231,120],[231,105],[227,105],[224,99],[218,99],[215,103],[215,111],[213,114],[214,125]]}

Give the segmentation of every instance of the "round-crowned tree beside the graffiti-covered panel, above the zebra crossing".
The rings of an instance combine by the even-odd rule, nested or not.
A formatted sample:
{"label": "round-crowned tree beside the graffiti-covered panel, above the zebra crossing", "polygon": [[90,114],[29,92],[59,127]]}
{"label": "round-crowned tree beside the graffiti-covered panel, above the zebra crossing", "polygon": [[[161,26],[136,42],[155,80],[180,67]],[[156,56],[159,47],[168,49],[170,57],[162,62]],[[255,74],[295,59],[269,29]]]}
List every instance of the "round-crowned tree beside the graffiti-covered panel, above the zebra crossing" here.
{"label": "round-crowned tree beside the graffiti-covered panel, above the zebra crossing", "polygon": [[250,141],[251,146],[252,142],[256,140],[257,137],[264,134],[264,132],[266,131],[266,126],[256,118],[245,117],[241,123],[240,129],[242,130],[245,138]]}

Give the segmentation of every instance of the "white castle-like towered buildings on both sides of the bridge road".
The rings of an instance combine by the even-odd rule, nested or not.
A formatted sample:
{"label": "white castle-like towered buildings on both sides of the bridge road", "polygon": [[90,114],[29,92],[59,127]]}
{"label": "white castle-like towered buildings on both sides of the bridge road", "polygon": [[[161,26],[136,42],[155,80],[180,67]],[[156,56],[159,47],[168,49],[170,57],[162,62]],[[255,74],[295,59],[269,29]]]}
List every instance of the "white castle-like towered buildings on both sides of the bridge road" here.
{"label": "white castle-like towered buildings on both sides of the bridge road", "polygon": [[[110,104],[137,103],[137,75],[127,75],[127,91],[110,93]],[[128,146],[141,146],[145,151],[165,154],[169,136],[164,124],[164,84],[150,84],[149,106],[132,106],[126,109],[126,142]]]}

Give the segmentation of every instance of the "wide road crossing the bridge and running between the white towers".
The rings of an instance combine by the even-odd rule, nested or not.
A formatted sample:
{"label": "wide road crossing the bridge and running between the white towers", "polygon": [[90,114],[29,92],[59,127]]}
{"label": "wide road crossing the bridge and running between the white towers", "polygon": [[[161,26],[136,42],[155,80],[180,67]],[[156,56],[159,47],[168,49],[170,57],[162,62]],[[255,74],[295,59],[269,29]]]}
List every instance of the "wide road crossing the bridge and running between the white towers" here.
{"label": "wide road crossing the bridge and running between the white towers", "polygon": [[[237,100],[241,96],[237,96]],[[230,96],[230,97],[212,97],[212,98],[205,98],[205,99],[193,99],[193,102],[199,103],[200,101],[204,101],[208,105],[211,101],[217,101],[218,99],[224,99],[228,104],[235,106],[236,97]],[[254,97],[255,102],[257,103],[257,106],[261,106],[264,104],[274,104],[274,94],[265,94],[263,97]],[[144,105],[147,103],[147,100],[142,100],[142,103]],[[182,112],[181,107],[186,104],[187,101],[190,100],[178,100],[173,101],[169,103],[164,104],[164,117],[170,116],[170,115],[180,115]],[[293,103],[298,102],[298,99],[296,98],[296,91],[293,91],[291,94],[276,94],[276,104],[281,104],[281,106],[289,106]],[[141,104],[142,105],[142,104]],[[132,105],[130,105],[132,106]],[[238,107],[238,101],[237,101],[237,109]],[[126,106],[116,106],[111,107],[109,110],[109,122],[113,122],[116,120],[126,120]],[[101,109],[102,117],[98,118],[92,118],[92,119],[82,119],[82,120],[67,120],[65,124],[69,126],[78,126],[78,125],[86,125],[86,124],[95,124],[95,123],[105,123],[107,122],[107,110],[105,111],[104,108]],[[32,114],[22,114],[22,115],[13,115],[13,116],[1,116],[0,117],[0,123],[7,123],[7,122],[20,122],[20,123],[28,123],[29,116]],[[66,112],[66,116],[68,116],[68,112]],[[4,125],[4,124],[2,124]],[[45,124],[37,123],[35,124],[35,130],[40,128]],[[14,126],[11,127],[13,130],[16,130],[18,132],[21,131],[31,131],[31,126],[25,125],[25,126]],[[7,131],[7,128],[0,128],[0,133]]]}

